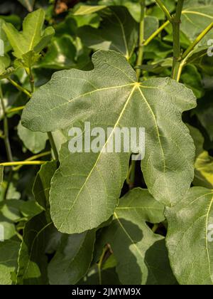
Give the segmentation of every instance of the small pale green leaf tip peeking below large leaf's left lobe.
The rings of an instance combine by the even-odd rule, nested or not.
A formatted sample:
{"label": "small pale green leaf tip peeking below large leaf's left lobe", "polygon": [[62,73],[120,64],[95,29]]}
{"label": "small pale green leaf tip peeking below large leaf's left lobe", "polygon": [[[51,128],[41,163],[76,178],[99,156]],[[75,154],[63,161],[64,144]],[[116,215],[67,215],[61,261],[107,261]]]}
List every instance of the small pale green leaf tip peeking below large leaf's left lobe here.
{"label": "small pale green leaf tip peeking below large leaf's left lobe", "polygon": [[45,149],[46,141],[48,140],[48,135],[41,132],[32,132],[26,127],[21,125],[21,122],[18,124],[18,136],[23,141],[25,147],[33,152],[38,154]]}

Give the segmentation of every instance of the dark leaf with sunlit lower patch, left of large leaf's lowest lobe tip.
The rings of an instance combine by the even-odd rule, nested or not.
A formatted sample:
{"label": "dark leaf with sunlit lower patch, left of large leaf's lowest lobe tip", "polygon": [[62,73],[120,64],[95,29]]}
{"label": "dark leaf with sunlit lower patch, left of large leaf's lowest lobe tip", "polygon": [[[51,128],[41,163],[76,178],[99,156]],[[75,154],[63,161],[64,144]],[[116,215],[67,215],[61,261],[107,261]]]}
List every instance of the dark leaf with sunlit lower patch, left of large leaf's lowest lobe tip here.
{"label": "dark leaf with sunlit lower patch, left of large leaf's lowest lobe tip", "polygon": [[53,223],[48,223],[45,212],[33,217],[23,231],[23,241],[18,254],[18,285],[48,284],[48,261],[45,247],[50,238]]}

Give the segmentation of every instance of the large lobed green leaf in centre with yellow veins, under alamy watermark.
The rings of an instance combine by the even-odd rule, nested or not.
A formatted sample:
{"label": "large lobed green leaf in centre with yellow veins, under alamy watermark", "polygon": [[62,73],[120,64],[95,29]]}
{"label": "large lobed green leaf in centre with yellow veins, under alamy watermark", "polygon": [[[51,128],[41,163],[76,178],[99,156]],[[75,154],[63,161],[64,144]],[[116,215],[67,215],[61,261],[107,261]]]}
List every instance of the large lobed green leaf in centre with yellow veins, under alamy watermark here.
{"label": "large lobed green leaf in centre with yellow veins, under alamy watermark", "polygon": [[131,65],[114,51],[99,51],[92,61],[94,70],[89,72],[55,73],[33,95],[22,116],[24,126],[40,132],[86,120],[92,127],[114,128],[97,154],[73,154],[68,144],[62,146],[50,206],[55,226],[67,234],[94,229],[114,213],[130,156],[104,152],[117,127],[145,127],[142,170],[158,201],[175,205],[194,176],[195,146],[181,119],[183,111],[196,105],[192,91],[170,78],[138,83]]}

